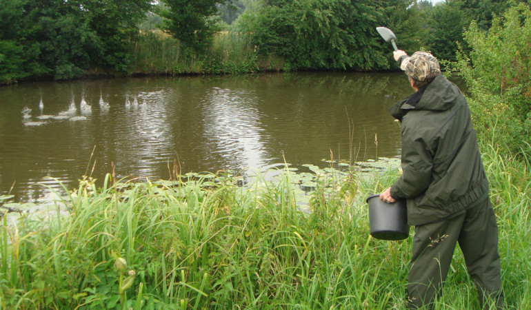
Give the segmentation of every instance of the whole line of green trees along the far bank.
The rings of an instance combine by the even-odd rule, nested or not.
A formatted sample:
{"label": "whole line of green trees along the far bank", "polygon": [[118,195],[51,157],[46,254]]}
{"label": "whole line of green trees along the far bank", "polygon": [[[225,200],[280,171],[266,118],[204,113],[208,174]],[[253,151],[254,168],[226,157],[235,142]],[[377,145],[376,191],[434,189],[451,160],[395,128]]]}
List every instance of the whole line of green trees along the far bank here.
{"label": "whole line of green trees along the far bank", "polygon": [[208,55],[221,31],[246,38],[257,57],[280,56],[283,70],[385,70],[390,47],[455,61],[463,30],[528,0],[2,0],[0,83],[130,74],[146,32],[177,39],[184,56]]}

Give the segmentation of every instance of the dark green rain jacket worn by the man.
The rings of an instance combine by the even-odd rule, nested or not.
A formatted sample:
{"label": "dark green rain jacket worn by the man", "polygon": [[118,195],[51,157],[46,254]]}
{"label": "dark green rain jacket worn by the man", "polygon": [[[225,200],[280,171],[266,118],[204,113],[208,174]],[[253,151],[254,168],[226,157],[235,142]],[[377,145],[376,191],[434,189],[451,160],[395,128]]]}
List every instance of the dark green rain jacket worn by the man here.
{"label": "dark green rain jacket worn by the man", "polygon": [[401,177],[391,196],[408,199],[408,224],[457,216],[488,196],[470,110],[444,76],[392,105],[401,121]]}

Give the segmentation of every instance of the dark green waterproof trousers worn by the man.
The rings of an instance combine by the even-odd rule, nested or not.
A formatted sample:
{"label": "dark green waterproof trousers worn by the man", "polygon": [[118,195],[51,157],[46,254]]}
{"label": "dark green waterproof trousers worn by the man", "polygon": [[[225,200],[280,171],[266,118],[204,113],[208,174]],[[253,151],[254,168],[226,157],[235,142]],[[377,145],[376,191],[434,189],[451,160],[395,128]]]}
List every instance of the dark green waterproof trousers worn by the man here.
{"label": "dark green waterproof trousers worn by the man", "polygon": [[463,214],[414,227],[408,307],[430,308],[441,295],[456,242],[474,280],[481,308],[503,306],[496,216],[487,198]]}

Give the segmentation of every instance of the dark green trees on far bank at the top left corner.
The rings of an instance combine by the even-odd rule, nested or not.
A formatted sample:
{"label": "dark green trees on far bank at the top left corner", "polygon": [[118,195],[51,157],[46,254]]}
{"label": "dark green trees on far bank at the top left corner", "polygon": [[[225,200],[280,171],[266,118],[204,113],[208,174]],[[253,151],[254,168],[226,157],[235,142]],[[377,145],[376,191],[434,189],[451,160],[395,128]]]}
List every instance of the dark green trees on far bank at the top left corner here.
{"label": "dark green trees on far bank at the top left corner", "polygon": [[72,79],[99,65],[126,72],[149,0],[0,3],[0,79]]}

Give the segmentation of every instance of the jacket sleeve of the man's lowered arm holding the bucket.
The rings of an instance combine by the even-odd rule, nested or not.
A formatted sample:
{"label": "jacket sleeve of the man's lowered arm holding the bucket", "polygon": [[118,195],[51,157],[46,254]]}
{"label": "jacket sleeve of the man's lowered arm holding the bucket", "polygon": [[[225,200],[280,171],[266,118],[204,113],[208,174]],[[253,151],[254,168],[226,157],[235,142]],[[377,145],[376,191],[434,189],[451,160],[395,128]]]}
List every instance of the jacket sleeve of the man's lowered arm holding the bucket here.
{"label": "jacket sleeve of the man's lowered arm holding the bucket", "polygon": [[391,187],[394,198],[417,198],[430,185],[432,152],[425,139],[408,132],[402,134],[402,175]]}

